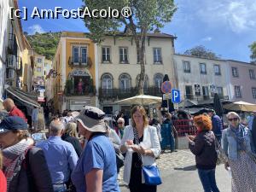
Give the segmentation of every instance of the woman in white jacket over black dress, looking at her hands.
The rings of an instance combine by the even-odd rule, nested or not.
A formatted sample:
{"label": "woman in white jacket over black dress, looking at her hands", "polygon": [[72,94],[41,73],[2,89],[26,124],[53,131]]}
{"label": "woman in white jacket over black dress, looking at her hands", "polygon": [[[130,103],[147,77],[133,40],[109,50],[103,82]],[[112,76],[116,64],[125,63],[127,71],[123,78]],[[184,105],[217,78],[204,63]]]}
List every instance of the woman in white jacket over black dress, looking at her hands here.
{"label": "woman in white jacket over black dress, looking at her hands", "polygon": [[125,127],[120,150],[125,155],[124,181],[131,192],[155,192],[156,185],[144,183],[142,166],[152,166],[160,155],[156,128],[148,125],[143,106],[131,110],[131,125]]}

